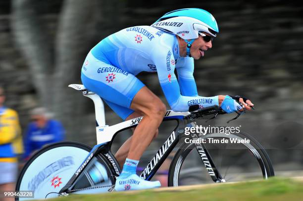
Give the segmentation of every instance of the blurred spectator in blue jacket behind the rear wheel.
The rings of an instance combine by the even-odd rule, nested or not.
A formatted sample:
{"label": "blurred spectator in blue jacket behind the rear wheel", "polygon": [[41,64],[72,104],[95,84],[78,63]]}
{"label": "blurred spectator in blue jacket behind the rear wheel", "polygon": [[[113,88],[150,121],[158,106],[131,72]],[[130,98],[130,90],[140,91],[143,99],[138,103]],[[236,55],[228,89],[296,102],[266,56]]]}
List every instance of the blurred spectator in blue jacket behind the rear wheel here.
{"label": "blurred spectator in blue jacket behind the rear wheel", "polygon": [[64,140],[64,128],[56,120],[50,119],[50,113],[44,107],[31,111],[31,123],[28,125],[24,139],[24,159],[43,146]]}

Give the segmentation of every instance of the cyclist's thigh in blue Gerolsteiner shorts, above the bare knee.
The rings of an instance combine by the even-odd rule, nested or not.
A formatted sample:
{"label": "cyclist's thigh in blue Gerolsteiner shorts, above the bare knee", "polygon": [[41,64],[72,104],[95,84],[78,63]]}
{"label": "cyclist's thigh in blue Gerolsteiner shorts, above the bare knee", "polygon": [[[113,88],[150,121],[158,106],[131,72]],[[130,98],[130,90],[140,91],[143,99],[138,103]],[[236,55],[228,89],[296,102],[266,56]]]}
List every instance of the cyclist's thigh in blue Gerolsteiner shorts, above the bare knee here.
{"label": "cyclist's thigh in blue Gerolsteiner shorts, above the bare knee", "polygon": [[[87,89],[98,94],[107,103],[113,103],[112,107],[121,110],[130,108],[135,95],[145,86],[133,74],[112,66],[106,59],[98,60],[91,52],[83,64],[81,80]],[[123,112],[130,114],[133,110]]]}

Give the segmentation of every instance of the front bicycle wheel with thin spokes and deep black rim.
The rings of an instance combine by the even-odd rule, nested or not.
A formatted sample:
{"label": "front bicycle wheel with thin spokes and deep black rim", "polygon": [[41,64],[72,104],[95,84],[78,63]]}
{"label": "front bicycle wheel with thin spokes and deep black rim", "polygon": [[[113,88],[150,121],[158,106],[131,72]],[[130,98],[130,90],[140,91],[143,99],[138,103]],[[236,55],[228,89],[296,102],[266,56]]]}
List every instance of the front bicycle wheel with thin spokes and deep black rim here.
{"label": "front bicycle wheel with thin spokes and deep black rim", "polygon": [[[202,136],[206,149],[223,182],[267,179],[274,176],[271,161],[263,147],[246,133],[212,133]],[[238,140],[250,143],[235,143]],[[217,140],[217,141],[216,141]],[[226,141],[227,140],[227,141]],[[184,142],[184,139],[182,139]],[[188,142],[188,141],[187,141]],[[247,142],[247,141],[246,141]],[[184,143],[176,152],[168,174],[169,186],[213,183],[196,145]]]}

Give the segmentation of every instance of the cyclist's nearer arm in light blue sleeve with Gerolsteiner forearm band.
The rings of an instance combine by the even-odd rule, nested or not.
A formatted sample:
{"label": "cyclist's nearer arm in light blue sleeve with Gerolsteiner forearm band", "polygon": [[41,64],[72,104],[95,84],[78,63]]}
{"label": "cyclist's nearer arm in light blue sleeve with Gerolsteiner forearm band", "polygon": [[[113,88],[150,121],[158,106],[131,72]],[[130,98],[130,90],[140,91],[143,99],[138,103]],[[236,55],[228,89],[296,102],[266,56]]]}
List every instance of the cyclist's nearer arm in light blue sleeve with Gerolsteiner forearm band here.
{"label": "cyclist's nearer arm in light blue sleeve with Gerolsteiner forearm band", "polygon": [[[161,47],[152,51],[152,59],[157,68],[157,74],[163,93],[170,107],[174,111],[188,111],[190,105],[199,104],[201,107],[218,105],[218,96],[215,97],[189,97],[182,96],[177,78],[174,74],[175,65],[168,59],[174,59],[171,49]],[[169,56],[169,54],[171,54]],[[167,60],[167,63],[166,63]]]}

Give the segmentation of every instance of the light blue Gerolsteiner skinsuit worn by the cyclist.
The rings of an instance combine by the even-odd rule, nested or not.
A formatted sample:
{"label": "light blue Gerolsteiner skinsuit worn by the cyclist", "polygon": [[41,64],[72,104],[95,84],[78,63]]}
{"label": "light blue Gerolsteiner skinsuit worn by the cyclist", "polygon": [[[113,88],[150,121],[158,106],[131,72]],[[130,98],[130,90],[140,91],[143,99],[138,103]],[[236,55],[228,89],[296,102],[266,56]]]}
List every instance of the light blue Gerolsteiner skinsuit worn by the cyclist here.
{"label": "light blue Gerolsteiner skinsuit worn by the cyclist", "polygon": [[125,119],[134,112],[130,109],[134,96],[145,86],[135,77],[142,71],[157,72],[173,111],[188,111],[194,104],[218,105],[217,96],[198,96],[194,59],[179,55],[176,35],[151,26],[126,28],[103,39],[88,53],[81,79],[87,89]]}

